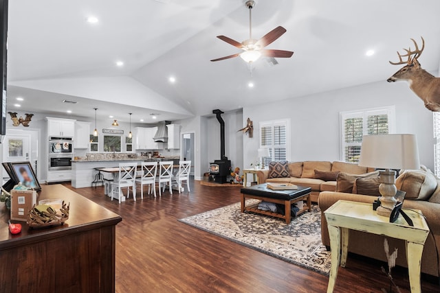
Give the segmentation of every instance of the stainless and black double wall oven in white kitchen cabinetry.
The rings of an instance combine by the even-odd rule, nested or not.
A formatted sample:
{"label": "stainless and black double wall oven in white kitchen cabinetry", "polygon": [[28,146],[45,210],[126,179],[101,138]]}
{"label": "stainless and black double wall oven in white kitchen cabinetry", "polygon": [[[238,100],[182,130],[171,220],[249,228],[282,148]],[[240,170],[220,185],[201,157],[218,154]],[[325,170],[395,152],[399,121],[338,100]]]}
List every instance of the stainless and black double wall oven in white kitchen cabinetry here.
{"label": "stainless and black double wall oven in white kitchen cabinetry", "polygon": [[72,137],[49,138],[49,169],[72,169],[74,156],[74,139]]}

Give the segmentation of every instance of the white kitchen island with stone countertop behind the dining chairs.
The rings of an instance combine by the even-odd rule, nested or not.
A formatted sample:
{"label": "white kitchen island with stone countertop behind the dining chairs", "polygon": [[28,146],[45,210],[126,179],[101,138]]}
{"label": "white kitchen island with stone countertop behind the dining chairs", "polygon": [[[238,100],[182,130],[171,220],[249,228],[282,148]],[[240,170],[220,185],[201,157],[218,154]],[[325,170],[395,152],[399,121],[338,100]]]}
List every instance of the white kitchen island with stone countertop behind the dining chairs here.
{"label": "white kitchen island with stone countertop behind the dining chairs", "polygon": [[[179,165],[179,159],[155,158],[146,159],[145,157],[126,158],[126,159],[89,159],[72,161],[72,187],[83,188],[91,187],[95,175],[98,173],[95,168],[111,168],[118,167],[119,163],[142,162],[148,161],[173,161],[175,165]],[[104,178],[111,179],[111,174],[103,174]]]}

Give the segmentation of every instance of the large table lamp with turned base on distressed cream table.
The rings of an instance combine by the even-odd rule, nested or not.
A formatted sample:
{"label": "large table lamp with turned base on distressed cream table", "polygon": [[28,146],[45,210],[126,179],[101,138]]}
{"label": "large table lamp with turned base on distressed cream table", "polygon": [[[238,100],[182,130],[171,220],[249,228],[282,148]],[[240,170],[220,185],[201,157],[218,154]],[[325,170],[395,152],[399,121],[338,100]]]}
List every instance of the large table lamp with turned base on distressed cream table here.
{"label": "large table lamp with turned base on distressed cream table", "polygon": [[380,171],[380,207],[377,214],[389,217],[396,203],[395,178],[392,169],[419,169],[419,149],[415,134],[365,135],[362,139],[359,165],[385,169]]}

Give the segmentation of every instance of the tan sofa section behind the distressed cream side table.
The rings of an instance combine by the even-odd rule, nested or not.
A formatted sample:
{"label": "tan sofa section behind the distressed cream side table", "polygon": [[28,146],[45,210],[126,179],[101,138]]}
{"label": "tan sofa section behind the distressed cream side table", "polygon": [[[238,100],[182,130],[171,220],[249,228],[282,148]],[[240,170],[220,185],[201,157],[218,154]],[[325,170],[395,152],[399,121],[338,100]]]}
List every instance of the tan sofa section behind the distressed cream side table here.
{"label": "tan sofa section behind the distressed cream side table", "polygon": [[[432,180],[434,180],[434,183],[432,183]],[[396,187],[406,191],[407,196],[404,201],[404,208],[420,210],[426,217],[426,222],[428,222],[430,227],[430,233],[423,248],[421,272],[440,277],[440,178],[431,174],[429,180],[428,177],[420,178],[419,176],[411,182],[406,180],[405,174],[401,174],[396,180]],[[330,246],[327,221],[323,212],[331,207],[332,204],[338,200],[373,203],[376,198],[377,196],[364,196],[335,191],[321,192],[318,203],[321,210],[322,244],[327,247]],[[349,233],[349,252],[386,262],[384,236],[360,231],[350,231]],[[404,241],[391,237],[387,237],[387,239],[391,249],[398,248],[397,265],[407,268]]]}

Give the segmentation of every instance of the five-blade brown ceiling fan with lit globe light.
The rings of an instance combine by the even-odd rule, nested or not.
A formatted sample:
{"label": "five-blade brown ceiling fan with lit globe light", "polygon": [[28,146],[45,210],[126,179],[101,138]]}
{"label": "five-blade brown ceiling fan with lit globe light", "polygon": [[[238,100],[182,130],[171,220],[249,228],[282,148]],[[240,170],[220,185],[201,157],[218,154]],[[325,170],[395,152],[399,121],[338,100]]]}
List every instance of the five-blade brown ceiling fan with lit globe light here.
{"label": "five-blade brown ceiling fan with lit globe light", "polygon": [[243,40],[242,43],[237,42],[236,40],[232,40],[232,38],[228,38],[227,36],[217,36],[220,40],[225,41],[226,43],[242,49],[243,52],[233,54],[230,56],[225,56],[217,59],[211,60],[220,61],[230,58],[235,58],[240,56],[245,62],[252,63],[258,60],[261,56],[271,57],[271,58],[290,58],[294,54],[292,51],[284,51],[284,50],[275,50],[275,49],[264,49],[267,45],[273,43],[276,39],[282,36],[286,29],[282,26],[276,27],[274,30],[268,32],[263,36],[263,38],[259,40],[255,40],[252,38],[252,8],[254,8],[256,1],[248,0],[245,1],[246,7],[249,9],[249,38],[248,40]]}

